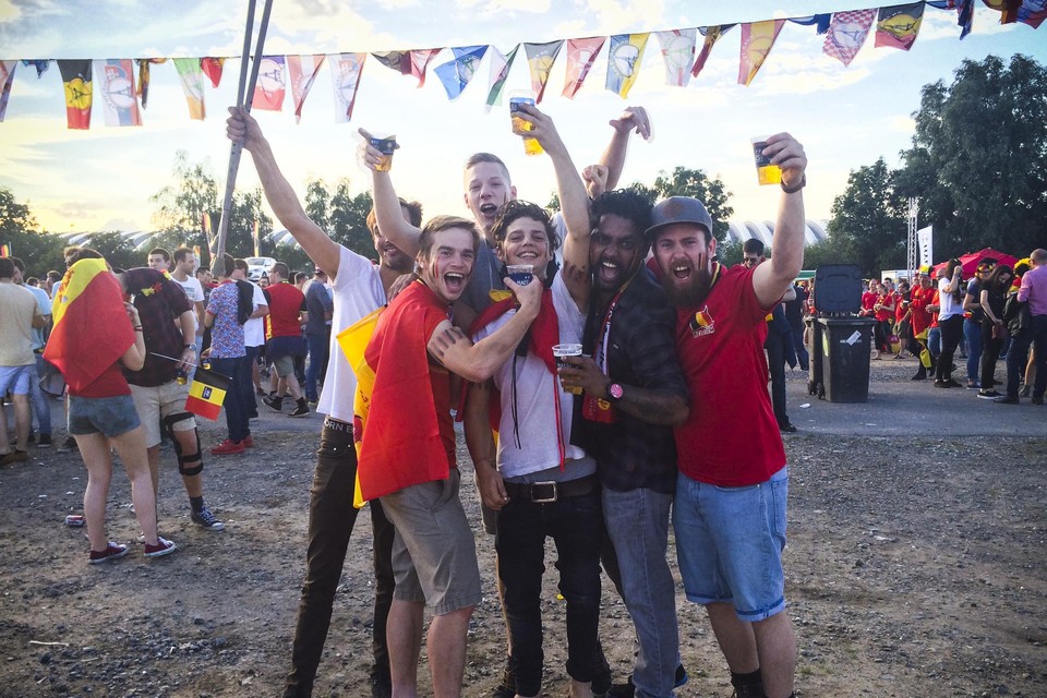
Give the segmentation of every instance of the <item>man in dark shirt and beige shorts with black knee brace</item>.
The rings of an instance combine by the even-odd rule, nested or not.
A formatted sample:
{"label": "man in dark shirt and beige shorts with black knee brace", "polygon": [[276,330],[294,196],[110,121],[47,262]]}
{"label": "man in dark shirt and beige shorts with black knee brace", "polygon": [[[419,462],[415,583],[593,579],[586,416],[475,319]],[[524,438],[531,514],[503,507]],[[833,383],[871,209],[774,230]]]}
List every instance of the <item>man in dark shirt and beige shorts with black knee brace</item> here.
{"label": "man in dark shirt and beige shorts with black knee brace", "polygon": [[[151,261],[153,255],[151,254]],[[153,489],[159,492],[161,434],[174,447],[178,472],[189,495],[192,520],[209,531],[225,525],[204,504],[204,461],[196,419],[186,411],[190,386],[184,375],[196,360],[196,318],[193,304],[165,272],[136,267],[119,272],[123,292],[139,310],[145,336],[145,363],[137,371],[124,370],[134,407],[145,428],[146,453]],[[178,376],[182,375],[182,382]]]}

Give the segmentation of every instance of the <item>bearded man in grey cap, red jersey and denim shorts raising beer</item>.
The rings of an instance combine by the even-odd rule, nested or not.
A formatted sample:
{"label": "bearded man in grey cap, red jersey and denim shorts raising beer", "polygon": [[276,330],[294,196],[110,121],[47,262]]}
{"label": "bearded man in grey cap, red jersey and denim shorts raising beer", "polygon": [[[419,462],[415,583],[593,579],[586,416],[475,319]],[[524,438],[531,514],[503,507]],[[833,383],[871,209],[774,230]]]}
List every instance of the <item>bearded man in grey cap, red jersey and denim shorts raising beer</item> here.
{"label": "bearded man in grey cap, red jersey and denim shorts raising beer", "polygon": [[792,136],[767,141],[782,169],[771,257],[753,268],[713,260],[712,217],[672,196],[647,229],[676,308],[676,353],[693,400],[675,430],[673,527],[687,598],[706,606],[739,698],[793,691],[796,639],[785,610],[787,471],[767,392],[765,317],[804,261],[807,158]]}

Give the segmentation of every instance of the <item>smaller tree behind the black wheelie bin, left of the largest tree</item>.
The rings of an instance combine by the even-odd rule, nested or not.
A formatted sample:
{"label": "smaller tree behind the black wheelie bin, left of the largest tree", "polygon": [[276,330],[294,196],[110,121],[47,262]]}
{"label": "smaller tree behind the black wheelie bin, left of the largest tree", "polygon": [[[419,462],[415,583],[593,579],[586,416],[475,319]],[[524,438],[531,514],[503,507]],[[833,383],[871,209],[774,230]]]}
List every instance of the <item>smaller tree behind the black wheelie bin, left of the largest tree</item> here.
{"label": "smaller tree behind the black wheelie bin, left of the largest tree", "polygon": [[905,265],[906,219],[906,202],[894,192],[894,173],[880,158],[852,171],[846,190],[832,203],[828,227],[832,244],[822,254],[841,255],[835,261],[857,264],[866,276],[901,268]]}

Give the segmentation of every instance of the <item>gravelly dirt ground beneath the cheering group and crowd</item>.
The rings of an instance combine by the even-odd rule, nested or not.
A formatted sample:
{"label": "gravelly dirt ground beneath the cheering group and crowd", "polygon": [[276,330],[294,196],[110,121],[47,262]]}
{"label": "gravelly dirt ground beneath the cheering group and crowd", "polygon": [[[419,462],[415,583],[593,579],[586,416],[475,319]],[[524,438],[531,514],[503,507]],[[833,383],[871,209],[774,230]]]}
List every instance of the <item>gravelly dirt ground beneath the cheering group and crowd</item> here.
{"label": "gravelly dirt ground beneath the cheering group and crowd", "polygon": [[[878,365],[874,381],[902,388],[911,369]],[[791,374],[794,413],[803,381]],[[979,402],[963,390],[948,397]],[[60,420],[60,410],[55,413]],[[958,414],[964,419],[964,409]],[[988,414],[1007,419],[1002,411]],[[906,419],[903,406],[898,418]],[[798,423],[801,432],[785,440],[786,598],[798,638],[797,695],[1047,695],[1047,429],[1033,436],[878,436],[820,434]],[[99,566],[87,565],[83,530],[62,522],[80,513],[86,483],[75,453],[33,449],[29,462],[0,470],[0,696],[279,695],[321,420],[267,413],[253,425],[257,445],[249,455],[205,460],[206,495],[226,521],[222,532],[189,521],[165,448],[160,531],[180,550],[156,561],[132,542],[137,529],[119,467],[109,537],[132,543],[133,552]],[[219,431],[204,424],[205,445]],[[63,438],[59,426],[56,443]],[[496,684],[505,641],[493,540],[480,529],[471,468],[467,457],[462,462],[485,580],[470,630],[465,695],[480,697]],[[361,516],[316,696],[370,695],[370,520]],[[550,551],[547,562],[553,558]],[[543,695],[563,696],[564,604],[551,564],[550,570]],[[624,681],[631,624],[610,582],[603,603],[601,639]],[[677,610],[690,673],[677,695],[730,696],[705,613],[679,587]],[[424,653],[422,663],[424,693]]]}

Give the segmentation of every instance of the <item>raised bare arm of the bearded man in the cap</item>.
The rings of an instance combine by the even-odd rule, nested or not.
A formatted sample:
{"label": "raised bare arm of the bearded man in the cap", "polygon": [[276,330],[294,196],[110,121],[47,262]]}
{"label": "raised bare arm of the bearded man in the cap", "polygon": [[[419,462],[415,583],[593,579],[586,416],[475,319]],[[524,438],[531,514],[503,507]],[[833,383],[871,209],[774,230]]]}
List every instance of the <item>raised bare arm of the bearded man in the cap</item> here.
{"label": "raised bare arm of the bearded man in the cap", "polygon": [[807,156],[802,146],[787,133],[767,140],[763,154],[782,168],[782,198],[778,208],[778,224],[771,241],[771,258],[753,272],[753,288],[763,308],[770,308],[793,285],[804,266],[804,191],[807,183]]}

